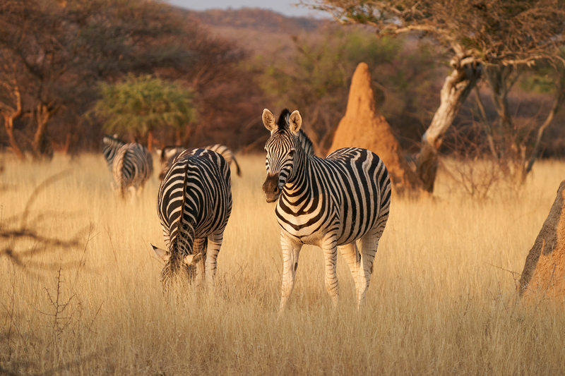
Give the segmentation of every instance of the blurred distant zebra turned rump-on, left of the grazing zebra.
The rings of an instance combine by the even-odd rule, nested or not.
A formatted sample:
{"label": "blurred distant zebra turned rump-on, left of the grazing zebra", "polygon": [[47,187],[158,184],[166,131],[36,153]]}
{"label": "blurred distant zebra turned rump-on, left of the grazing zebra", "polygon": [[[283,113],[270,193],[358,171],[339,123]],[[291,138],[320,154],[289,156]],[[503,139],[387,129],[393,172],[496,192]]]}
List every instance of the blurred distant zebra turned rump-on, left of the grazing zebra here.
{"label": "blurred distant zebra turned rump-on, left of the grazing zebra", "polygon": [[125,198],[127,190],[140,193],[153,174],[153,157],[143,145],[136,142],[126,144],[114,157],[112,174],[121,198]]}

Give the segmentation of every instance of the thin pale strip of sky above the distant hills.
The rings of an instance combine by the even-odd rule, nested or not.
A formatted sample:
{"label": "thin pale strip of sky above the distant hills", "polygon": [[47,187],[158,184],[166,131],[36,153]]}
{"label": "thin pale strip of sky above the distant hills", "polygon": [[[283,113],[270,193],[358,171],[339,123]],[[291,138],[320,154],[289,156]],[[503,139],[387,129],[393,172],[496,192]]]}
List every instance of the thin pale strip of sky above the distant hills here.
{"label": "thin pale strip of sky above the distant hills", "polygon": [[206,9],[239,9],[263,8],[270,9],[285,16],[311,16],[321,18],[321,12],[311,11],[304,6],[292,6],[299,0],[165,0],[167,3],[181,6],[182,8],[204,11]]}

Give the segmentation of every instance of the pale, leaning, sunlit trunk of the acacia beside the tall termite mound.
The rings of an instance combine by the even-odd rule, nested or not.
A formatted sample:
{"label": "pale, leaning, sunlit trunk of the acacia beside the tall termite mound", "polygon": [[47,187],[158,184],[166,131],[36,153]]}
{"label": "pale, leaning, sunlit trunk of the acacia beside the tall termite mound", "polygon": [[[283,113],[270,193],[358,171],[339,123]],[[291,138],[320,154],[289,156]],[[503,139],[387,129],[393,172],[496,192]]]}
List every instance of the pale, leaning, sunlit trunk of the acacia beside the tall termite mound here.
{"label": "pale, leaning, sunlit trunk of the acacia beside the tall termite mound", "polygon": [[441,104],[434,114],[432,123],[422,135],[422,149],[418,159],[416,173],[424,190],[433,192],[437,172],[437,150],[444,135],[457,116],[461,104],[465,102],[472,88],[481,77],[482,65],[475,58],[457,54],[450,62],[453,72],[448,75],[441,88]]}

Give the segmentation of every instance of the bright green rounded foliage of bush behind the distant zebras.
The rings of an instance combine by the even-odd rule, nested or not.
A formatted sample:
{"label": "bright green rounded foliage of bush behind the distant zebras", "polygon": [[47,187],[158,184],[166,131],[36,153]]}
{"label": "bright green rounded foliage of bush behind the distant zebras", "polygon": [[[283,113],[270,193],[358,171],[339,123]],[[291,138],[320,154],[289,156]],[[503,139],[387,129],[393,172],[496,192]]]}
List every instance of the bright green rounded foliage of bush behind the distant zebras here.
{"label": "bright green rounded foliage of bush behind the distant zebras", "polygon": [[191,90],[151,75],[127,75],[124,82],[100,83],[95,114],[109,132],[145,135],[157,128],[181,128],[196,120]]}

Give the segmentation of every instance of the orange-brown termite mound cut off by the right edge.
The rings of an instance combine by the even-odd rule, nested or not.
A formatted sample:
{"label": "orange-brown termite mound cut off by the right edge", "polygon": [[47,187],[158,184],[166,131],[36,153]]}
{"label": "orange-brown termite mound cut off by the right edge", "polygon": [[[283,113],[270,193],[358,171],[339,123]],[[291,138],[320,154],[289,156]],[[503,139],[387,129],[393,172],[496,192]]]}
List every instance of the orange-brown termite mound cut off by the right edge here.
{"label": "orange-brown termite mound cut off by the right edge", "polygon": [[525,259],[518,286],[522,301],[553,298],[565,302],[565,180],[559,184],[557,198],[540,234]]}

